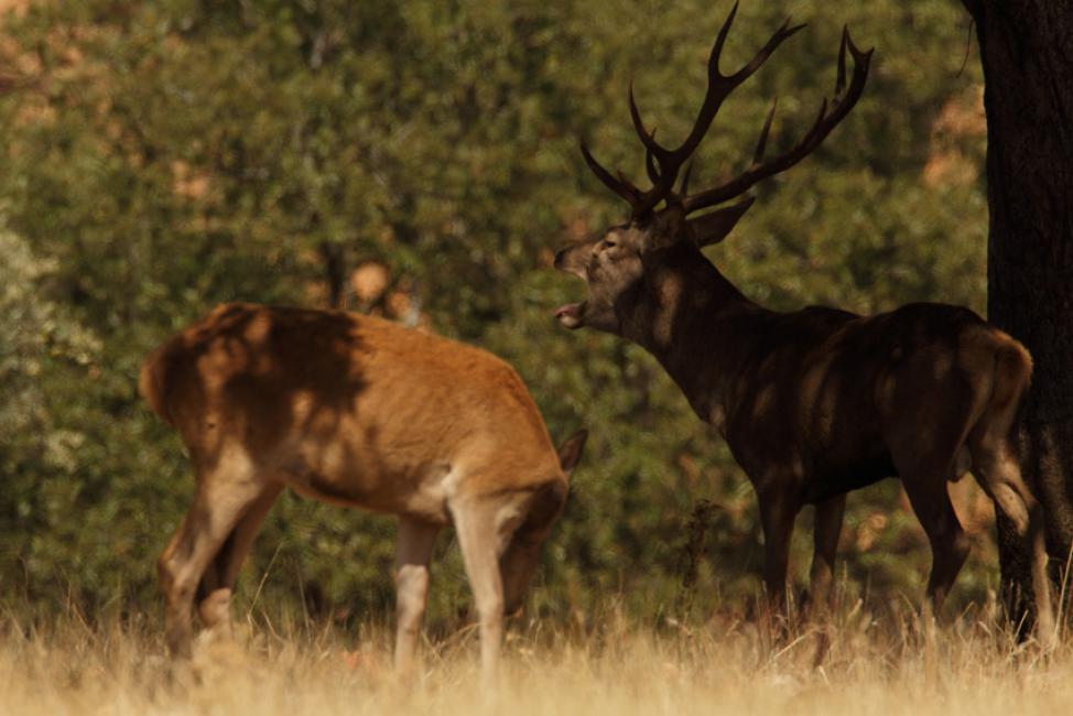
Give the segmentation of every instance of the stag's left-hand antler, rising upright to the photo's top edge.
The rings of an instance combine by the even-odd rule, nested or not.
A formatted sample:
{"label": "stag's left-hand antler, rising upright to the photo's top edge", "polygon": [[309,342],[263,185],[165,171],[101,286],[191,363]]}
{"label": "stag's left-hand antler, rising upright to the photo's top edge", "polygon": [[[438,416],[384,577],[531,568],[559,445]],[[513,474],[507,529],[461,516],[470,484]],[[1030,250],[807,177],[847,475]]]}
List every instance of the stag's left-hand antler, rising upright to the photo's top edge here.
{"label": "stag's left-hand antler, rising upright to the photo's top edge", "polygon": [[[730,95],[734,89],[740,85],[743,82],[748,79],[760,66],[771,56],[771,53],[790,35],[801,30],[804,25],[791,25],[790,19],[787,18],[785,22],[782,23],[772,35],[768,39],[757,54],[750,59],[745,66],[738,69],[733,75],[724,75],[719,69],[719,57],[723,54],[723,46],[726,43],[726,37],[729,34],[730,25],[734,23],[734,18],[738,12],[738,3],[735,2],[734,7],[730,9],[727,19],[723,22],[723,26],[719,29],[719,33],[715,39],[715,43],[712,46],[712,52],[708,55],[708,86],[704,95],[704,101],[701,104],[701,109],[697,112],[696,120],[693,122],[693,129],[690,131],[689,137],[685,138],[676,149],[670,150],[659,142],[655,141],[655,132],[649,132],[644,128],[644,122],[641,119],[641,113],[637,108],[637,102],[633,98],[633,84],[630,83],[629,90],[629,105],[630,105],[630,119],[633,121],[633,129],[637,131],[637,135],[640,138],[641,143],[644,145],[646,151],[651,154],[652,159],[659,164],[658,175],[659,181],[653,180],[654,186],[644,192],[641,196],[641,200],[633,205],[633,216],[639,217],[648,211],[652,210],[657,204],[666,199],[674,187],[674,182],[678,178],[678,173],[682,167],[682,164],[696,151],[696,148],[701,144],[704,135],[707,133],[708,128],[712,126],[712,121],[715,119],[716,113],[719,111],[723,101]],[[651,163],[648,158],[646,158],[647,163]],[[654,170],[654,166],[652,167]],[[649,172],[649,177],[652,178],[653,172]]]}

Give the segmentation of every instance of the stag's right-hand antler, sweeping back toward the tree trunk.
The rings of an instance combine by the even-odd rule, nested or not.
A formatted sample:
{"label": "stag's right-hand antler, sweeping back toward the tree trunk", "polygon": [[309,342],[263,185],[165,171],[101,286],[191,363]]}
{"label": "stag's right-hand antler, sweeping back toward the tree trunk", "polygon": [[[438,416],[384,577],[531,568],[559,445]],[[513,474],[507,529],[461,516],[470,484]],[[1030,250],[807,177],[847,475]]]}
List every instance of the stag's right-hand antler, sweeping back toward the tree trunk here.
{"label": "stag's right-hand antler, sweeping back toward the tree trunk", "polygon": [[[853,55],[854,67],[853,77],[849,79],[849,87],[845,88],[845,50],[848,47]],[[831,104],[831,113],[827,113],[827,100],[824,99],[820,107],[820,113],[805,135],[788,152],[780,154],[770,162],[757,164],[754,162],[744,174],[734,178],[722,186],[716,186],[694,196],[687,196],[682,200],[686,214],[698,209],[722,204],[728,199],[744,194],[757,182],[765,180],[773,174],[783,172],[805,156],[826,139],[827,134],[838,126],[849,110],[854,108],[865,88],[865,80],[868,78],[868,64],[871,61],[874,50],[861,52],[853,43],[848,29],[843,30],[842,45],[838,52],[838,77],[835,83],[835,98]],[[842,90],[845,88],[845,95]],[[770,117],[770,115],[769,115]],[[767,127],[761,132],[761,142],[766,141]],[[758,148],[759,150],[759,148]]]}

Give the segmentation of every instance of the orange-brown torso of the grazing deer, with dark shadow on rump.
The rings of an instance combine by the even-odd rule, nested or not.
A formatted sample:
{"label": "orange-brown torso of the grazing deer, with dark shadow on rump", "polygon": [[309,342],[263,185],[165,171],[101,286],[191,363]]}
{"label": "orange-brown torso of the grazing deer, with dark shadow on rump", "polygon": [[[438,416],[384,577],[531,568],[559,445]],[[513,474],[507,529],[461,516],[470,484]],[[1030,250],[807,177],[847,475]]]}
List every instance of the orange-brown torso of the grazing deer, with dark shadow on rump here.
{"label": "orange-brown torso of the grazing deer, with dark shadow on rump", "polygon": [[562,479],[508,364],[368,316],[223,305],[150,356],[141,390],[199,474],[238,453],[300,492],[383,511],[451,476],[470,491]]}

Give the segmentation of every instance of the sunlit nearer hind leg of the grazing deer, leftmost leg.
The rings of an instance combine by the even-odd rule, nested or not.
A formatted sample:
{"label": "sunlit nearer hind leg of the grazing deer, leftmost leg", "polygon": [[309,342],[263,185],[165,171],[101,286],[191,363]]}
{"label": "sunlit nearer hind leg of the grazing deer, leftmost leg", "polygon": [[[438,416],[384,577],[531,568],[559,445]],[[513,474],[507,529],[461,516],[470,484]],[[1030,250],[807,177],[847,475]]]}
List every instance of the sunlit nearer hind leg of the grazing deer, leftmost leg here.
{"label": "sunlit nearer hind leg of the grazing deer, leftmost leg", "polygon": [[242,478],[200,476],[189,512],[156,561],[167,647],[173,655],[191,654],[195,590],[231,530],[264,490],[249,474]]}

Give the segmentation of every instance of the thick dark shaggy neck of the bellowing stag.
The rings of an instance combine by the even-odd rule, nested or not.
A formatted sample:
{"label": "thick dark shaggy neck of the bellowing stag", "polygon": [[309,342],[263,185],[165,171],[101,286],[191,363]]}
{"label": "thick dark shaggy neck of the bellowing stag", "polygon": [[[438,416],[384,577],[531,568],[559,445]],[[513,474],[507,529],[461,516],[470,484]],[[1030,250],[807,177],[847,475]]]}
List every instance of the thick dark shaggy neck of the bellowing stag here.
{"label": "thick dark shaggy neck of the bellowing stag", "polygon": [[756,341],[755,316],[766,310],[697,249],[665,251],[646,265],[622,335],[651,352],[697,416],[722,431],[728,387]]}

